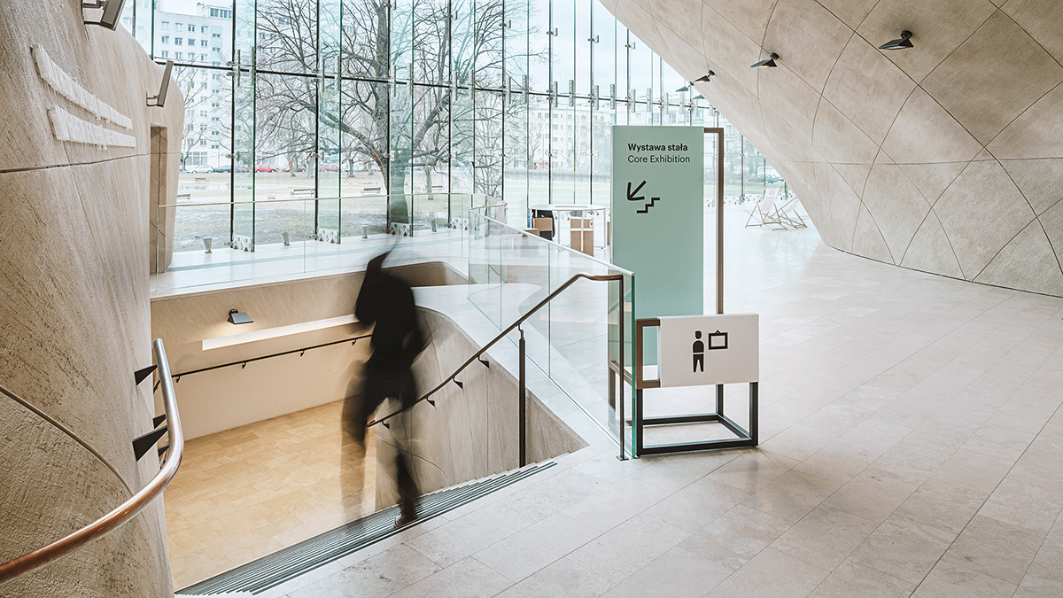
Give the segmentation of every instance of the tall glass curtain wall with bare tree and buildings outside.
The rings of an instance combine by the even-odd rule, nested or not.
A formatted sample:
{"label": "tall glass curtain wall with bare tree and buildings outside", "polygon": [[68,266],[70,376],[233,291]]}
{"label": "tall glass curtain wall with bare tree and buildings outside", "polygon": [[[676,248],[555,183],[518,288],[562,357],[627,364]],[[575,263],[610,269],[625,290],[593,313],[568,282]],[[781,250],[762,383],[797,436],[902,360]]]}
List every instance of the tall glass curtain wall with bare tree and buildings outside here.
{"label": "tall glass curtain wall with bare tree and buildings outside", "polygon": [[[448,194],[472,193],[506,201],[508,221],[525,227],[529,205],[608,204],[613,124],[722,126],[726,196],[782,184],[600,0],[135,0],[124,11],[145,49],[176,64],[179,201],[229,203],[184,211],[195,217],[178,222],[179,238],[253,247],[282,232],[418,231],[466,217],[468,196]],[[318,199],[270,203],[292,198]]]}

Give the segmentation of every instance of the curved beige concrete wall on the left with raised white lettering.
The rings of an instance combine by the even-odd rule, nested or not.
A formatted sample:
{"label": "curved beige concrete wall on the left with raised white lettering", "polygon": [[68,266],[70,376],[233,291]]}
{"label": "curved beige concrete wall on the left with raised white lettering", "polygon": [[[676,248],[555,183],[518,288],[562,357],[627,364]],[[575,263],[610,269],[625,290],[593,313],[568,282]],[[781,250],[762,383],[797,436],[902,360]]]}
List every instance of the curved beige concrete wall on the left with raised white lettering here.
{"label": "curved beige concrete wall on the left with raised white lettering", "polygon": [[[184,105],[172,84],[165,110],[147,107],[162,68],[124,30],[83,24],[80,1],[4,2],[2,13],[0,384],[103,459],[0,396],[6,561],[106,513],[158,470],[151,456],[133,459],[130,442],[154,415],[151,385],[134,386],[133,371],[152,362],[149,201],[175,186]],[[35,44],[132,128],[97,120],[46,83]],[[49,106],[132,136],[133,147],[56,140]],[[153,126],[172,133],[152,136]],[[153,148],[170,164],[162,180],[150,175]],[[157,501],[103,539],[0,587],[0,596],[172,596],[165,534]]]}

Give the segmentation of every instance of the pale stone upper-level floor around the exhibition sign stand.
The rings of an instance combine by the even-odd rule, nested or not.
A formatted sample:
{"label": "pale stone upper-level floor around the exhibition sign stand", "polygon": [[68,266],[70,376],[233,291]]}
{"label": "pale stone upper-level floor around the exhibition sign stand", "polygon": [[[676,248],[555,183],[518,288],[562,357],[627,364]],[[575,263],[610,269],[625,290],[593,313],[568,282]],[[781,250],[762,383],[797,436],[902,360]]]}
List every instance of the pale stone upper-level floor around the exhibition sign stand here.
{"label": "pale stone upper-level floor around the exhibition sign stand", "polygon": [[758,450],[620,462],[585,426],[560,467],[261,596],[1063,595],[1063,299],[729,234]]}

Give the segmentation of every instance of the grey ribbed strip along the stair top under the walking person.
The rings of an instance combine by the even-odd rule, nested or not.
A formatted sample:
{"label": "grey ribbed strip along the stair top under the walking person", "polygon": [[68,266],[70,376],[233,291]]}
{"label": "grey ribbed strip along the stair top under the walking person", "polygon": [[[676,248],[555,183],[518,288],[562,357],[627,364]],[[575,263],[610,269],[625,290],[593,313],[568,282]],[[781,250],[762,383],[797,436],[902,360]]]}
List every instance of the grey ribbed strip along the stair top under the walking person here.
{"label": "grey ribbed strip along the stair top under the walking person", "polygon": [[426,494],[418,502],[418,519],[399,530],[394,529],[394,518],[399,515],[399,506],[390,506],[190,585],[179,591],[178,595],[220,594],[223,592],[260,594],[554,465],[556,463],[550,461],[463,486]]}

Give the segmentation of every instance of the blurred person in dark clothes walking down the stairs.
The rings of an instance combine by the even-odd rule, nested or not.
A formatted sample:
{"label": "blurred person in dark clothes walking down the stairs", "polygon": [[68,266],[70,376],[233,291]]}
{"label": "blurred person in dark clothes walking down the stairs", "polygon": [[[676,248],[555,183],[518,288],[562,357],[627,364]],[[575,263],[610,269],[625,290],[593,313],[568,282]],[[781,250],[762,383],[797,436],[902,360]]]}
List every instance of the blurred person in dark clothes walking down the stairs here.
{"label": "blurred person in dark clothes walking down the stairs", "polygon": [[[417,318],[412,289],[382,268],[389,253],[370,260],[354,305],[358,321],[373,326],[372,354],[366,361],[360,389],[349,393],[343,402],[343,428],[358,444],[365,443],[366,423],[385,399],[398,399],[401,409],[407,410],[419,398],[412,366],[427,338]],[[400,415],[400,422],[401,431],[394,433],[395,483],[402,510],[395,517],[396,528],[417,518],[420,496],[410,471],[414,421],[408,411]]]}

